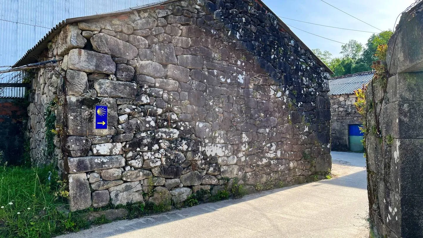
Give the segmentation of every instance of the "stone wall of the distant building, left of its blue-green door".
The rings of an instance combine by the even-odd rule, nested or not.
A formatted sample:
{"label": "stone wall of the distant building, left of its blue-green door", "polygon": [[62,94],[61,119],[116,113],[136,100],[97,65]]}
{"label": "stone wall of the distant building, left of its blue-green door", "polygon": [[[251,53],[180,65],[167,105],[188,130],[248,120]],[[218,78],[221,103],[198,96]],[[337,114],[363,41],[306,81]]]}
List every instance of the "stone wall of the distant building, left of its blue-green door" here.
{"label": "stone wall of the distant building, left of its blue-green door", "polygon": [[332,150],[348,151],[348,125],[362,124],[362,116],[354,105],[356,100],[355,94],[330,95]]}

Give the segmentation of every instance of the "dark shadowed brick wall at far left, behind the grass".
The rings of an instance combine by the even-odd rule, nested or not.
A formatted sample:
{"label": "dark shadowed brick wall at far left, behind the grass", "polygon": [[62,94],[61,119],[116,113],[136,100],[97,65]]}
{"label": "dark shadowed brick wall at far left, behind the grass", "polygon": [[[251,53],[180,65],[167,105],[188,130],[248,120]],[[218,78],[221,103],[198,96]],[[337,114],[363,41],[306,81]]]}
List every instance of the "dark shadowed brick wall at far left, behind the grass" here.
{"label": "dark shadowed brick wall at far left, behind the grass", "polygon": [[3,154],[1,162],[7,162],[8,165],[22,163],[27,123],[25,100],[0,98],[0,152]]}

